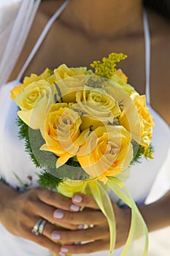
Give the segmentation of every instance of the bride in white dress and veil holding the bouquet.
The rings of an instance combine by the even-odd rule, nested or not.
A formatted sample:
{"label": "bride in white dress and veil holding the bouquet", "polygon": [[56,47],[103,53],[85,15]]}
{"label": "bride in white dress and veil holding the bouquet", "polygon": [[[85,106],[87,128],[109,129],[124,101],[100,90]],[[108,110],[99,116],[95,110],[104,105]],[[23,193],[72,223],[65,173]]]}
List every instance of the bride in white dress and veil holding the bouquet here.
{"label": "bride in white dress and veil holding the bouquet", "polygon": [[[141,0],[15,0],[8,5],[7,2],[4,7],[9,10],[5,13],[12,10],[12,14],[1,15],[0,27],[0,84],[9,81],[0,91],[1,255],[109,255],[107,221],[93,197],[78,194],[71,200],[38,187],[36,173],[40,170],[35,169],[24,151],[23,141],[18,140],[17,106],[9,93],[31,72],[40,73],[46,67],[54,69],[61,63],[88,66],[113,51],[128,54],[121,68],[128,74],[129,83],[140,94],[146,94],[155,120],[154,159],[135,165],[125,185],[150,232],[170,225],[166,177],[170,145],[168,18],[150,9],[143,11]],[[163,182],[165,194],[151,203],[148,195],[156,177],[156,188]],[[114,255],[121,255],[131,211],[118,207],[112,193],[110,197],[117,222]],[[80,206],[85,210],[80,212]],[[83,228],[87,222],[94,224],[93,232]],[[55,224],[69,230],[60,230]],[[31,232],[36,227],[41,227],[38,236]]]}

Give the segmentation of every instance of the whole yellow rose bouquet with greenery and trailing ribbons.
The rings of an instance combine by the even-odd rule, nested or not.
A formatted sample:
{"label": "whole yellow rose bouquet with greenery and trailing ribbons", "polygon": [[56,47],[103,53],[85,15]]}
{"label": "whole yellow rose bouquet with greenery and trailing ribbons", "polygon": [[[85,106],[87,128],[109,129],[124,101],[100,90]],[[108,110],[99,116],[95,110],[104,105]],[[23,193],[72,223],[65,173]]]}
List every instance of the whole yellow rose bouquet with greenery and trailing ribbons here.
{"label": "whole yellow rose bouquet with greenery and trailing ribbons", "polygon": [[[123,53],[93,61],[92,69],[66,64],[32,74],[11,91],[17,103],[20,138],[36,167],[41,186],[66,197],[90,193],[107,217],[112,255],[115,215],[107,192],[131,208],[131,227],[122,255],[133,240],[142,239],[138,251],[147,255],[147,227],[125,180],[132,164],[152,158],[152,116],[144,95],[127,83],[116,62]],[[141,241],[141,240],[140,240]]]}

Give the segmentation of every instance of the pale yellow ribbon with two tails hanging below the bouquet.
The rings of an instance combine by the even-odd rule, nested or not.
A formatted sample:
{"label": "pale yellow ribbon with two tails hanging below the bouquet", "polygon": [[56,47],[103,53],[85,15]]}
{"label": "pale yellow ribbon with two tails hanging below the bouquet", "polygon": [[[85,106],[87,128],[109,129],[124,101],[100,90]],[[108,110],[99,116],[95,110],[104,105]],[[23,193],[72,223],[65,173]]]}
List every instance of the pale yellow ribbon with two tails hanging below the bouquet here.
{"label": "pale yellow ribbon with two tails hanging below the bouquet", "polygon": [[[109,195],[107,194],[108,188],[112,189],[112,191],[115,192],[115,194],[121,200],[123,200],[127,206],[131,208],[131,227],[121,256],[134,255],[132,254],[132,250],[134,248],[134,243],[132,242],[139,238],[140,241],[137,243],[138,252],[135,251],[135,255],[137,254],[138,256],[146,256],[148,249],[147,226],[139,212],[139,209],[136,206],[136,203],[134,203],[133,198],[128,192],[128,189],[125,188],[124,182],[120,181],[119,178],[108,177],[107,185],[103,185],[101,181],[96,179],[89,181],[64,181],[59,185],[58,192],[66,197],[72,197],[77,192],[93,195],[93,198],[96,200],[98,207],[108,221],[110,233],[109,256],[111,256],[115,248],[116,222],[112,203]],[[141,241],[142,237],[144,237],[144,243]]]}

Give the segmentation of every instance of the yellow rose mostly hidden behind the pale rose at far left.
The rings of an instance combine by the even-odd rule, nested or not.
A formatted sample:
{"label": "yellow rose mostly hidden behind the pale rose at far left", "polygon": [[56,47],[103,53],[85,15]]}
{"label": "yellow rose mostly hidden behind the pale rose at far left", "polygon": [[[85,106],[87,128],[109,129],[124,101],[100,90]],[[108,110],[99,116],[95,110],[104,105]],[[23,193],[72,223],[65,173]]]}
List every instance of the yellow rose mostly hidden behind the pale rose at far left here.
{"label": "yellow rose mostly hidden behind the pale rose at far left", "polygon": [[42,79],[47,80],[48,78],[50,78],[51,75],[52,75],[52,71],[50,69],[45,69],[45,71],[42,72],[42,74],[40,75],[31,74],[30,77],[25,77],[22,84],[20,84],[19,86],[15,86],[11,90],[11,98],[15,99],[15,97],[17,97],[18,94],[23,92],[26,89],[26,86],[28,86],[30,83],[33,83]]}

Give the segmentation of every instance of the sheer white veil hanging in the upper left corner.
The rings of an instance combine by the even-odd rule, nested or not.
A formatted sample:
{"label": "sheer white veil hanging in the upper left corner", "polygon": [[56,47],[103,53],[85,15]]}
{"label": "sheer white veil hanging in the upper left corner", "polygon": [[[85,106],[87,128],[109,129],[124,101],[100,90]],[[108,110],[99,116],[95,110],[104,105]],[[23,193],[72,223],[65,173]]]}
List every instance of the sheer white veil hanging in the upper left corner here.
{"label": "sheer white veil hanging in the upper left corner", "polygon": [[[41,0],[22,0],[20,1],[20,4],[18,3],[18,14],[15,16],[15,19],[12,22],[12,29],[9,34],[6,35],[6,38],[4,38],[6,40],[6,45],[0,61],[0,87],[7,82],[12,69],[15,67],[16,61],[18,60],[20,52],[23,49],[23,45],[26,42],[28,32],[31,28],[31,24],[34,20],[34,16],[39,7],[40,1]],[[12,8],[14,8],[14,1],[6,1],[6,4],[8,5],[7,10],[5,10],[5,15],[7,16],[10,15],[9,12],[12,11]],[[5,22],[5,18],[0,19],[1,25],[4,23],[4,31],[7,32],[8,27]]]}

